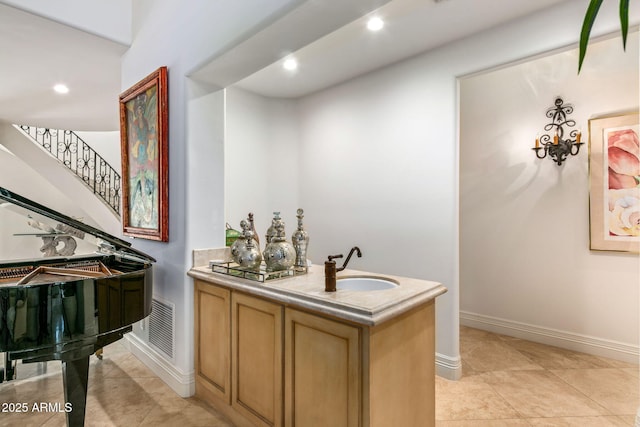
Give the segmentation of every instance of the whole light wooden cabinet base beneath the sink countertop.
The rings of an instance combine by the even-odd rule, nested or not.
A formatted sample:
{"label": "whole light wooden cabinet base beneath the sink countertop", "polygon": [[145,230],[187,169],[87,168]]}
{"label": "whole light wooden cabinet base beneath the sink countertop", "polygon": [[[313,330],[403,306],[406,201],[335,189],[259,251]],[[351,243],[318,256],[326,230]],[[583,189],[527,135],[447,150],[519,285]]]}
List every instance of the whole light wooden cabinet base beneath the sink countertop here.
{"label": "whole light wooden cabinet base beneath the sink countertop", "polygon": [[435,301],[379,325],[195,281],[196,394],[237,426],[435,426]]}

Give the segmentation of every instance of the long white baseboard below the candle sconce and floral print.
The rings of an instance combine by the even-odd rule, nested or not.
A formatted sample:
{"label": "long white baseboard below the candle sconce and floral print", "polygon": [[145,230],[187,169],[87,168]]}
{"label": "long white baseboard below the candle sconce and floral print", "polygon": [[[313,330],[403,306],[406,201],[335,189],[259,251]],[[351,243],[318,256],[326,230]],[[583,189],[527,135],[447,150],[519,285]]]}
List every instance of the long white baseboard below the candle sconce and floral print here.
{"label": "long white baseboard below the candle sconce and floral print", "polygon": [[637,364],[640,358],[640,348],[637,345],[543,328],[482,314],[461,311],[460,324],[629,363]]}

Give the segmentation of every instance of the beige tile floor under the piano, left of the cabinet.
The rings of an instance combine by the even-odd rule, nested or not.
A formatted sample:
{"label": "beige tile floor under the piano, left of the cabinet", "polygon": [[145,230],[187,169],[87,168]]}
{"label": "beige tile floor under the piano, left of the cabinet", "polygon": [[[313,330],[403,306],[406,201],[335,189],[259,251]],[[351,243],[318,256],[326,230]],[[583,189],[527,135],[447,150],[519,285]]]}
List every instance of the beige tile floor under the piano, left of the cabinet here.
{"label": "beige tile floor under the piano, left of the cabinet", "polygon": [[[64,404],[60,362],[48,362],[47,373],[35,376],[37,364],[19,364],[18,379],[0,384],[0,426],[66,426],[64,413],[35,412],[34,403]],[[31,376],[31,378],[27,378]],[[24,379],[20,379],[24,378]],[[27,403],[27,413],[1,412],[3,403]],[[85,426],[233,426],[196,398],[181,398],[121,344],[91,356]]]}

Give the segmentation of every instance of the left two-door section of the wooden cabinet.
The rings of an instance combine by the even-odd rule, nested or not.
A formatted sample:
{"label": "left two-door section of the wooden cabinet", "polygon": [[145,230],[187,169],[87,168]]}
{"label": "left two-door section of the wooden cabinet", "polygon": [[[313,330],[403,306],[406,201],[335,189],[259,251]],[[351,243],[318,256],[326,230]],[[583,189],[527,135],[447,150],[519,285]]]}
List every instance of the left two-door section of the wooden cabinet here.
{"label": "left two-door section of the wooden cabinet", "polygon": [[237,426],[283,425],[283,307],[194,282],[196,395]]}

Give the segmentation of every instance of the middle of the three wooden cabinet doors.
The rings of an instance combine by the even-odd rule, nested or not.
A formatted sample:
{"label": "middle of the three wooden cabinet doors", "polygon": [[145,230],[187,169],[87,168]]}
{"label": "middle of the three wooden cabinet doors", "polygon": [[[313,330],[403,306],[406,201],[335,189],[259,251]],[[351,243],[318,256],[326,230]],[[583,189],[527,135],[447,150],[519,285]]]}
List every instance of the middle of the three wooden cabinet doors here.
{"label": "middle of the three wooden cabinet doors", "polygon": [[282,426],[282,306],[231,297],[231,406],[254,425]]}

